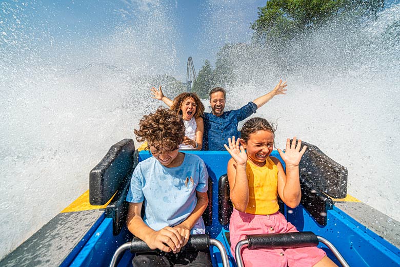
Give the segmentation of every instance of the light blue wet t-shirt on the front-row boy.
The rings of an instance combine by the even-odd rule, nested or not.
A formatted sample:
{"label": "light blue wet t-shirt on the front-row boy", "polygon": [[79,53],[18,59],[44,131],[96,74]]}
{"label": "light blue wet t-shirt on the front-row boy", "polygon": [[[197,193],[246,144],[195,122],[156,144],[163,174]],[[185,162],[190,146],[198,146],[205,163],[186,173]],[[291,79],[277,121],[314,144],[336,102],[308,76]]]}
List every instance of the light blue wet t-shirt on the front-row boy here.
{"label": "light blue wet t-shirt on the front-row boy", "polygon": [[[208,173],[204,161],[196,155],[185,154],[182,164],[167,168],[154,158],[137,164],[133,171],[126,200],[144,201],[143,221],[153,230],[175,226],[193,212],[197,204],[196,191],[207,192]],[[204,234],[200,217],[191,234]]]}

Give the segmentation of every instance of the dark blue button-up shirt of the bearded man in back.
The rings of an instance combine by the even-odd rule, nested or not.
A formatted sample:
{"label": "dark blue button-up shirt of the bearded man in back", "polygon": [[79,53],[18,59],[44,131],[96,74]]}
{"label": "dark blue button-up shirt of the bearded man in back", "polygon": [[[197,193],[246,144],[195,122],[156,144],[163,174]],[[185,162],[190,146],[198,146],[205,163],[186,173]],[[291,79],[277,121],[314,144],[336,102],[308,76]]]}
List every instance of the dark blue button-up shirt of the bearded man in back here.
{"label": "dark blue button-up shirt of the bearded man in back", "polygon": [[243,121],[257,110],[257,105],[249,102],[246,106],[225,111],[217,117],[212,113],[204,113],[203,150],[224,150],[224,144],[228,144],[228,138],[240,137],[237,130],[239,121]]}

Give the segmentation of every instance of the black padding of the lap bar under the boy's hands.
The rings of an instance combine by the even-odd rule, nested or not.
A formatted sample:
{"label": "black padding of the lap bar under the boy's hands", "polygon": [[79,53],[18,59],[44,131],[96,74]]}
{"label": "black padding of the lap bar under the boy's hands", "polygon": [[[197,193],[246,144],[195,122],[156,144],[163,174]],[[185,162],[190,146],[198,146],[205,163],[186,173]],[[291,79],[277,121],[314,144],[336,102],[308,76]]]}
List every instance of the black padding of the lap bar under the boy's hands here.
{"label": "black padding of the lap bar under the boy's hands", "polygon": [[[206,251],[210,247],[210,237],[208,235],[191,235],[188,243],[182,248],[181,251]],[[135,252],[151,252],[150,247],[138,237],[134,237],[131,242],[130,250]]]}

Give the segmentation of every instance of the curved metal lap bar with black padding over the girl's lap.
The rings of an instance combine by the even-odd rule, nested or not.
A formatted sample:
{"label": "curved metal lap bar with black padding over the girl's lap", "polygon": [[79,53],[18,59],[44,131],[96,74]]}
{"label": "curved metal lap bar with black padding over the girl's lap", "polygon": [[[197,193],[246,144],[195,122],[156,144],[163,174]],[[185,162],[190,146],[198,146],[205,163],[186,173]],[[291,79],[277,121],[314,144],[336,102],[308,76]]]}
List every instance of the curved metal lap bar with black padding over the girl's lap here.
{"label": "curved metal lap bar with black padding over the girl's lap", "polygon": [[[300,239],[303,238],[304,242],[299,242],[298,240],[296,240],[296,237],[301,237]],[[255,240],[253,240],[254,238]],[[264,239],[265,241],[264,243],[262,239]],[[311,240],[311,242],[309,240]],[[235,247],[236,264],[237,267],[244,266],[241,250],[245,246],[248,246],[249,250],[260,249],[260,248],[267,248],[267,249],[282,249],[288,247],[294,248],[294,247],[304,247],[305,244],[307,244],[307,246],[316,246],[318,242],[315,243],[314,242],[315,240],[318,240],[319,242],[322,242],[326,246],[328,246],[343,267],[350,267],[349,264],[346,262],[346,260],[343,258],[343,256],[337,251],[336,247],[334,247],[331,242],[329,242],[327,239],[321,236],[313,234],[312,232],[294,232],[285,234],[264,234],[264,235],[246,236],[246,239],[241,240],[236,244]]]}

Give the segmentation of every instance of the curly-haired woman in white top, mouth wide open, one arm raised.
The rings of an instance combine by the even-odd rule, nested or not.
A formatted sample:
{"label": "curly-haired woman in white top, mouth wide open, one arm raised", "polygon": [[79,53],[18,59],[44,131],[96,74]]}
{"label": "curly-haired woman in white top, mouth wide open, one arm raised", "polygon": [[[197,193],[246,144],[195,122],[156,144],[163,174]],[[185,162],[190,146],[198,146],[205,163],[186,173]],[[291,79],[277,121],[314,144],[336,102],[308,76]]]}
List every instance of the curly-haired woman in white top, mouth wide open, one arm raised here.
{"label": "curly-haired woman in white top, mouth wide open, one arm raised", "polygon": [[202,149],[204,124],[201,116],[204,112],[204,105],[197,94],[184,92],[171,101],[164,96],[161,86],[158,90],[152,87],[151,94],[153,94],[152,98],[164,101],[184,120],[185,138],[184,142],[179,145],[179,149]]}

